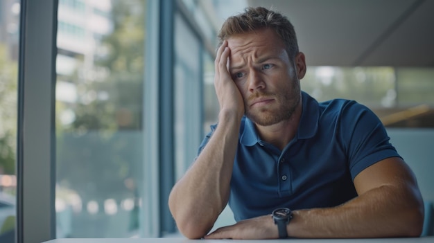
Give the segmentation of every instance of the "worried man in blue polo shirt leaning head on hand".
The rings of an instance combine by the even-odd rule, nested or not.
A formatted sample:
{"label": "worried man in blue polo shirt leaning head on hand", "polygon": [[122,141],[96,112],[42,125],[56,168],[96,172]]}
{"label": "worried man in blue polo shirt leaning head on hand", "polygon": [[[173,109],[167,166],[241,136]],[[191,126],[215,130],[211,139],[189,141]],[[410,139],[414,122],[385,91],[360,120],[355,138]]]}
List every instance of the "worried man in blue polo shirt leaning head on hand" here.
{"label": "worried man in blue polo shirt leaning head on hand", "polygon": [[[225,21],[219,38],[218,124],[168,201],[181,233],[420,235],[424,208],[413,172],[372,111],[350,100],[318,103],[300,90],[306,62],[286,17],[248,8]],[[209,233],[227,203],[237,223]]]}

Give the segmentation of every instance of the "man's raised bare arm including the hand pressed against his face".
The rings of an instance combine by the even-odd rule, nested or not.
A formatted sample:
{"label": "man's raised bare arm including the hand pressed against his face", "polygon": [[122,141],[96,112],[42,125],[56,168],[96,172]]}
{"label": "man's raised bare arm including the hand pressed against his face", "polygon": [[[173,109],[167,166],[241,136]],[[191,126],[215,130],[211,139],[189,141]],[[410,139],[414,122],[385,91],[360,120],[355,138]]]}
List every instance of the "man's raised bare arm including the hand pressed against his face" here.
{"label": "man's raised bare arm including the hand pressed against his face", "polygon": [[229,200],[232,167],[238,145],[244,103],[227,71],[230,50],[224,42],[217,51],[214,87],[220,112],[214,134],[196,161],[177,181],[168,205],[180,232],[201,238],[214,226]]}

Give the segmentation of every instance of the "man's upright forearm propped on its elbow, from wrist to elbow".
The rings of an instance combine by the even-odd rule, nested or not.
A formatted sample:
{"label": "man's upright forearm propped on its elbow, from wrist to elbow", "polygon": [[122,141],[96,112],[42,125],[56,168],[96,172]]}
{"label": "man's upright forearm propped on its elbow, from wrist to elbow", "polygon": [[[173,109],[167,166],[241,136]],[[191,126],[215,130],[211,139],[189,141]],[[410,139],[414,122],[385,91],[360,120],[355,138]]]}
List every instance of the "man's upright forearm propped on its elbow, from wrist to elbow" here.
{"label": "man's upright forearm propped on its elbow, from wrist to elbow", "polygon": [[208,233],[227,204],[238,143],[237,119],[220,117],[204,150],[173,187],[169,207],[186,237],[198,238]]}

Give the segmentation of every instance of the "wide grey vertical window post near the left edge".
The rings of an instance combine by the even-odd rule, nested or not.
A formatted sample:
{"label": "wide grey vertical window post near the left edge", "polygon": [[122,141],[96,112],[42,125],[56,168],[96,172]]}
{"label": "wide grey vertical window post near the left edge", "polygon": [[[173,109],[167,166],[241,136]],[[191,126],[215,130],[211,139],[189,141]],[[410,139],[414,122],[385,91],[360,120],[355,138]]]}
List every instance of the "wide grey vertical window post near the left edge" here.
{"label": "wide grey vertical window post near the left edge", "polygon": [[56,0],[21,0],[16,220],[19,243],[55,238],[57,10]]}

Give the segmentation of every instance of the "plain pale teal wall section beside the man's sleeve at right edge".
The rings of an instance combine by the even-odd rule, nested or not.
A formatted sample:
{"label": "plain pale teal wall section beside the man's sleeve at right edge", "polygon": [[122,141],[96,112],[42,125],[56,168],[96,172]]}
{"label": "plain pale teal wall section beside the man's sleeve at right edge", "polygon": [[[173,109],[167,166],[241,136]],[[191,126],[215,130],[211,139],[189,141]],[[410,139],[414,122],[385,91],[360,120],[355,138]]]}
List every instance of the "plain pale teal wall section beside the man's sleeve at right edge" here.
{"label": "plain pale teal wall section beside the man's sleeve at right edge", "polygon": [[415,172],[424,201],[434,202],[434,129],[388,128],[388,134]]}

